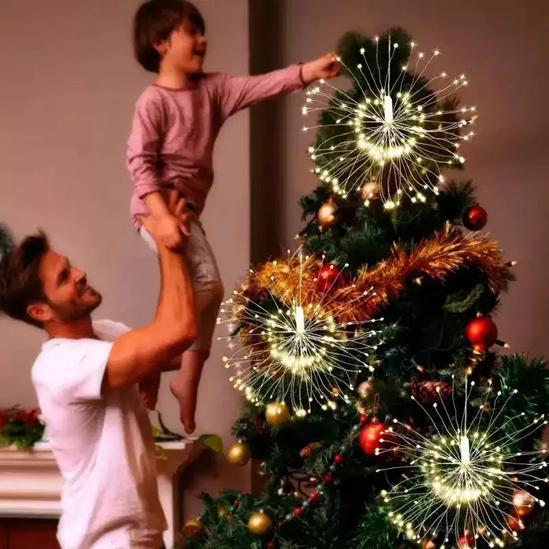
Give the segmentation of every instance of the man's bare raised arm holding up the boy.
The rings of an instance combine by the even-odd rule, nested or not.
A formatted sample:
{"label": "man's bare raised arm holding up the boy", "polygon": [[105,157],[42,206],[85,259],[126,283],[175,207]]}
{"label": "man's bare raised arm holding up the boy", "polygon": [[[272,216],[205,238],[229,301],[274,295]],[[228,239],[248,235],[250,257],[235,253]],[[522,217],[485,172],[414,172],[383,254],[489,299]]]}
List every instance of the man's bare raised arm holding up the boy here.
{"label": "man's bare raised arm holding up the boy", "polygon": [[[183,215],[184,201],[170,208]],[[157,237],[154,222],[143,220]],[[188,349],[196,338],[194,296],[183,255],[157,242],[161,270],[161,290],[156,315],[149,325],[120,336],[110,351],[102,390],[130,386]]]}

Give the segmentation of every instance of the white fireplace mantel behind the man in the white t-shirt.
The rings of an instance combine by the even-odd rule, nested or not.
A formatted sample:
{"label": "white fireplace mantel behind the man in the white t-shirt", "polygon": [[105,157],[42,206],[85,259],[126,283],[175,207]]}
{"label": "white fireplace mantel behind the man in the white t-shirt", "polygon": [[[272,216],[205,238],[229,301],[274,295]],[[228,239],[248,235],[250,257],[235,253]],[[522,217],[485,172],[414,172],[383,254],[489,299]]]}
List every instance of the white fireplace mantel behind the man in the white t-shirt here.
{"label": "white fireplace mantel behind the man in the white t-shirt", "polygon": [[[159,496],[168,529],[164,544],[172,547],[179,541],[179,479],[201,452],[193,441],[157,443],[166,459],[156,462]],[[32,449],[0,447],[0,516],[58,518],[61,514],[62,477],[47,442]]]}

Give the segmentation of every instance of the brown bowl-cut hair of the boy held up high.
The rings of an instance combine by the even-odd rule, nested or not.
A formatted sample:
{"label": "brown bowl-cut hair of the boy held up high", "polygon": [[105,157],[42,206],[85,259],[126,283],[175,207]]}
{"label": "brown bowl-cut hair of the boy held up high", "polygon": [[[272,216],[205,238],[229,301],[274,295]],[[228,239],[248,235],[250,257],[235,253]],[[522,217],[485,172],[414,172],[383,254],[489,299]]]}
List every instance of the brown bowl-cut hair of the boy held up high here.
{"label": "brown bowl-cut hair of the boy held up high", "polygon": [[198,9],[184,0],[149,0],[139,7],[133,20],[133,50],[141,66],[158,73],[161,56],[155,49],[187,19],[205,34],[206,26]]}

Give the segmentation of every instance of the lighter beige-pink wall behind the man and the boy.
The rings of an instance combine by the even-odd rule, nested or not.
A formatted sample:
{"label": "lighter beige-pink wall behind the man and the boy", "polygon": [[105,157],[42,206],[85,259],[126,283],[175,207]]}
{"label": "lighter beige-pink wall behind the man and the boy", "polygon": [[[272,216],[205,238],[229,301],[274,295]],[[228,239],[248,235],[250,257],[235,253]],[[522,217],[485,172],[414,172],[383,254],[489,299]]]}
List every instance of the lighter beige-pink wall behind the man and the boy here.
{"label": "lighter beige-pink wall behind the man and the boy", "polygon": [[[207,68],[247,73],[247,1],[196,4],[207,21]],[[124,163],[133,104],[151,79],[131,54],[137,5],[3,0],[0,12],[0,220],[16,237],[43,227],[104,294],[97,318],[128,325],[151,318],[158,291],[156,260],[130,224]],[[215,187],[203,217],[229,290],[249,261],[248,126],[248,113],[240,113],[220,136]],[[0,318],[0,408],[34,405],[29,372],[42,339],[39,331]],[[222,434],[229,443],[240,401],[226,379],[222,351],[216,342],[202,377],[198,430]],[[160,408],[178,428],[167,379]],[[249,485],[246,470],[208,472],[195,474],[187,488]],[[188,503],[186,514],[193,508]]]}

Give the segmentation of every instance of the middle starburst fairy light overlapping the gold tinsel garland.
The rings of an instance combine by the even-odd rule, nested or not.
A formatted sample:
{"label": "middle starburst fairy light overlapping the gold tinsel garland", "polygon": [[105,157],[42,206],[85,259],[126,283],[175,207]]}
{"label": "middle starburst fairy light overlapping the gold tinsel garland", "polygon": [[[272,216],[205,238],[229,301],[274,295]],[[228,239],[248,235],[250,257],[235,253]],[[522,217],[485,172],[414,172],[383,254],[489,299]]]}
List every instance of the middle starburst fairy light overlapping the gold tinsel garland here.
{"label": "middle starburst fairy light overlapping the gold tinsel garland", "polygon": [[[218,324],[228,323],[230,342],[238,334],[242,346],[223,361],[233,373],[235,388],[258,405],[285,401],[297,416],[318,405],[336,409],[349,401],[355,380],[373,371],[369,354],[379,344],[379,331],[366,318],[340,322],[333,283],[318,289],[316,274],[322,263],[313,256],[295,255],[267,264],[268,274],[250,270],[248,285],[260,288],[250,299],[248,285],[235,290],[222,306]],[[307,283],[305,283],[307,279]],[[373,296],[362,292],[344,304],[345,312]],[[341,310],[341,305],[339,305]],[[382,320],[382,319],[379,319]],[[373,362],[373,361],[372,361]]]}

